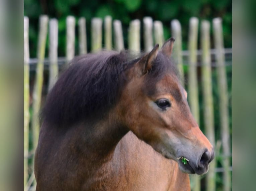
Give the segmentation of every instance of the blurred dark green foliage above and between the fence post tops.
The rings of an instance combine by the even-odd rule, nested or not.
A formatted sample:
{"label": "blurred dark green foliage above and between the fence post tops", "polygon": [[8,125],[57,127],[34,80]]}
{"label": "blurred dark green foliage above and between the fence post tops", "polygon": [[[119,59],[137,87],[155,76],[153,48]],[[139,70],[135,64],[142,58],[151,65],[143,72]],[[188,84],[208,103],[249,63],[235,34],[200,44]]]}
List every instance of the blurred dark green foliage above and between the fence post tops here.
{"label": "blurred dark green foliage above and between the fence post tops", "polygon": [[[119,19],[123,25],[125,46],[127,47],[127,29],[129,22],[150,16],[153,20],[163,22],[164,38],[170,34],[170,21],[178,19],[182,26],[183,49],[187,49],[188,22],[190,17],[198,17],[200,20],[212,21],[215,17],[223,19],[224,44],[232,47],[232,1],[231,0],[24,0],[24,15],[29,17],[29,46],[30,56],[36,57],[38,41],[38,18],[41,14],[47,14],[50,18],[57,18],[59,22],[59,56],[65,56],[66,42],[66,17],[73,15],[78,20],[85,17],[87,20],[87,47],[90,46],[90,26],[93,17],[104,18],[110,15],[113,19]],[[77,32],[76,32],[77,33]],[[143,40],[143,38],[141,38]],[[76,42],[76,44],[78,44]],[[143,48],[143,43],[141,43]],[[213,47],[212,47],[213,48]],[[48,47],[46,48],[46,56]],[[78,54],[78,50],[76,50]]]}

